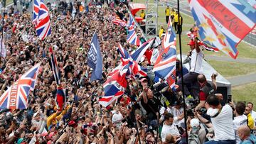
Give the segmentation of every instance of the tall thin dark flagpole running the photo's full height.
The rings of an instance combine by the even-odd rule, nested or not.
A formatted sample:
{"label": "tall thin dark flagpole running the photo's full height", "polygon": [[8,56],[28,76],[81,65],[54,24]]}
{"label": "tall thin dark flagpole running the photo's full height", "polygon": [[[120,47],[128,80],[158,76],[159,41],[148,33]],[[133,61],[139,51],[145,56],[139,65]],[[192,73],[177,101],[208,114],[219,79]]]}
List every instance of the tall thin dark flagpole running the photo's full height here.
{"label": "tall thin dark flagpole running the photo's full height", "polygon": [[[180,21],[180,9],[179,9],[179,0],[178,2],[178,26],[181,26]],[[188,143],[188,127],[187,127],[187,117],[186,117],[186,104],[185,104],[185,96],[184,96],[184,82],[183,82],[183,66],[182,66],[182,51],[181,51],[181,31],[178,30],[178,41],[179,41],[179,48],[180,48],[180,60],[181,60],[181,87],[182,87],[182,96],[183,96],[183,109],[184,109],[184,122],[185,122],[185,128],[186,128],[186,143]]]}

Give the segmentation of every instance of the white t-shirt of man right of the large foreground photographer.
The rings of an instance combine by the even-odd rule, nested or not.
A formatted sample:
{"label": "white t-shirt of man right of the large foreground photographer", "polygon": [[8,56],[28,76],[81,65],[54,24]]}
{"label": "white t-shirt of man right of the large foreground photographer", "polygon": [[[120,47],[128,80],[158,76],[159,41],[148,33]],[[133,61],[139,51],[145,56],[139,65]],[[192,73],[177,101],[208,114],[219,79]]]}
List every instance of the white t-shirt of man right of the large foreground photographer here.
{"label": "white t-shirt of man right of the large foreground photographer", "polygon": [[238,136],[238,128],[240,126],[246,126],[247,125],[247,116],[245,115],[242,115],[242,116],[236,116],[233,120],[233,127],[234,127],[234,130],[235,130],[235,141],[237,144],[240,143],[240,138]]}

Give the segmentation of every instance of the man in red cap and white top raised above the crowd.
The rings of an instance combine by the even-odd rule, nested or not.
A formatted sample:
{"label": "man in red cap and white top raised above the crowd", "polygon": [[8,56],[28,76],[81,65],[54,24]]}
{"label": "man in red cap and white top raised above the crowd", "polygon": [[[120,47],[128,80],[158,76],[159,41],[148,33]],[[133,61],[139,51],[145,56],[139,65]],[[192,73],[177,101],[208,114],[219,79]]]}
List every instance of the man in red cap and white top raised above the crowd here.
{"label": "man in red cap and white top raised above the crowd", "polygon": [[[191,57],[191,69],[187,74],[183,76],[183,84],[184,84],[184,94],[187,97],[193,96],[194,98],[198,97],[199,94],[199,84],[197,82],[197,77],[199,74],[203,74],[203,51],[199,48],[197,41],[190,40],[188,45],[191,48],[189,52]],[[182,82],[181,79],[178,79],[178,86],[181,87]],[[188,91],[188,86],[193,85],[195,87],[195,91]],[[181,87],[182,89],[182,87]]]}

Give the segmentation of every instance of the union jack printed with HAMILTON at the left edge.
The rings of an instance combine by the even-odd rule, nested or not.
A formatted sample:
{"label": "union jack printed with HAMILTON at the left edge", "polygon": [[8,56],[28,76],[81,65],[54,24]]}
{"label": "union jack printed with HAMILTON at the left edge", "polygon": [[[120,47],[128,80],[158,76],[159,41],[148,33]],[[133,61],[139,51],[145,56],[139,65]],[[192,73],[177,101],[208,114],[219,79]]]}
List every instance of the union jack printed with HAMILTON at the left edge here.
{"label": "union jack printed with HAMILTON at the left edge", "polygon": [[0,97],[0,109],[26,109],[28,94],[33,91],[41,63],[33,66],[20,79],[14,82]]}

